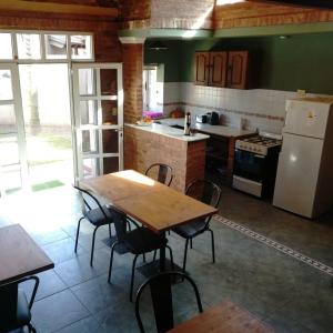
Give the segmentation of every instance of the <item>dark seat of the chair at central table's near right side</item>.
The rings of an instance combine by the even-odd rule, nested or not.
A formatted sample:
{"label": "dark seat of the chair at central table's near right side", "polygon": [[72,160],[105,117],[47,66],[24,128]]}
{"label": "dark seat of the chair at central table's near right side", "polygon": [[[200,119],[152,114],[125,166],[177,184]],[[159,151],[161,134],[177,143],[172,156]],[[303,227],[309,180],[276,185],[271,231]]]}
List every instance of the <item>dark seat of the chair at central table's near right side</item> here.
{"label": "dark seat of the chair at central table's near right side", "polygon": [[138,228],[128,232],[123,242],[133,254],[143,254],[164,248],[168,240],[147,228]]}

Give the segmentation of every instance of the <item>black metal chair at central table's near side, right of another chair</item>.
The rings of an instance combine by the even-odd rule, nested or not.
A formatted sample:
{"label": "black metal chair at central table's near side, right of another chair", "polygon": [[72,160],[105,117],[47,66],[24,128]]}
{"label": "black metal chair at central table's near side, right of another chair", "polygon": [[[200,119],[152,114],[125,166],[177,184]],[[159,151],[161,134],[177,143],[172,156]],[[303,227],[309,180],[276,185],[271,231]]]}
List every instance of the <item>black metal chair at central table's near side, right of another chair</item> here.
{"label": "black metal chair at central table's near side, right of another chair", "polygon": [[160,250],[161,248],[168,248],[170,251],[171,264],[173,266],[173,255],[172,250],[168,243],[168,239],[162,234],[157,234],[153,231],[138,226],[134,230],[127,230],[127,214],[118,211],[117,209],[110,209],[111,214],[113,215],[113,223],[115,226],[117,241],[112,244],[111,256],[110,256],[110,266],[109,266],[109,276],[108,282],[111,283],[111,272],[113,263],[113,253],[117,245],[125,246],[129,252],[134,254],[132,263],[132,275],[131,275],[131,287],[130,287],[130,301],[132,302],[133,295],[133,285],[134,285],[134,271],[138,256],[140,254],[144,255],[148,252]]}

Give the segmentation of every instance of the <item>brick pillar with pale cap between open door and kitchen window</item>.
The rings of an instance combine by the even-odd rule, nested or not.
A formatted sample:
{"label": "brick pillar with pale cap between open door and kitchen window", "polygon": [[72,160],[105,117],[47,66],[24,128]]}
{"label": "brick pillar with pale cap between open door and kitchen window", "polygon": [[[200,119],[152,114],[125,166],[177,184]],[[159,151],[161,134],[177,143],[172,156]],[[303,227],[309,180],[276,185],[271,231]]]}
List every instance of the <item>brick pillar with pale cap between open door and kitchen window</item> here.
{"label": "brick pillar with pale cap between open door and kitchen window", "polygon": [[142,65],[144,39],[120,38],[123,50],[124,122],[142,117]]}

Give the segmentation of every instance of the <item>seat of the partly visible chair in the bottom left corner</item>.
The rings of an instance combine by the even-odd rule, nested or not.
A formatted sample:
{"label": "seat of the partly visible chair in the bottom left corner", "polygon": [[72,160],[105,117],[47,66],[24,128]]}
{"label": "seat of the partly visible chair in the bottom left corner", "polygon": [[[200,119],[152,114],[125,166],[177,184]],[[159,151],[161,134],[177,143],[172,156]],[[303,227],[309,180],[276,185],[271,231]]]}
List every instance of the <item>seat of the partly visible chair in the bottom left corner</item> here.
{"label": "seat of the partly visible chair in the bottom left corner", "polygon": [[26,293],[22,289],[18,290],[18,307],[17,307],[17,317],[12,319],[10,322],[1,322],[0,331],[7,332],[17,330],[24,325],[28,325],[31,321],[31,312],[29,309],[28,300]]}

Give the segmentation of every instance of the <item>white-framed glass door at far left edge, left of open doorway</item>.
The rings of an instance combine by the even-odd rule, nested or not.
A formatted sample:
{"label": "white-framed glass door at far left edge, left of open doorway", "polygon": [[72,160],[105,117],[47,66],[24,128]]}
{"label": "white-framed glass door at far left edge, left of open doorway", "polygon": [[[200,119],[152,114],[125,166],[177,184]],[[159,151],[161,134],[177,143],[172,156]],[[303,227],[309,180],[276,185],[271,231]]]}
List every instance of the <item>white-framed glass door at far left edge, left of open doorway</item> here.
{"label": "white-framed glass door at far left edge, left of open doorway", "polygon": [[28,184],[24,124],[16,64],[0,64],[0,194]]}

